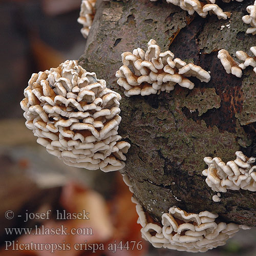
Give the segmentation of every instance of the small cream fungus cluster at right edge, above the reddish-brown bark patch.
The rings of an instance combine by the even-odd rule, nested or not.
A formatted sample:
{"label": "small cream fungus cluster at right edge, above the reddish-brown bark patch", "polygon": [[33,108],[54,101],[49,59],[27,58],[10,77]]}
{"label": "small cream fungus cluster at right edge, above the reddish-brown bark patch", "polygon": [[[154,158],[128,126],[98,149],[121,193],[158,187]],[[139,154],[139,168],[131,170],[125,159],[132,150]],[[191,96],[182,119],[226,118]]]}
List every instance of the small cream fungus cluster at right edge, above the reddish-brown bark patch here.
{"label": "small cream fungus cluster at right edge, above the reddish-brown bark patch", "polygon": [[256,74],[256,46],[250,48],[253,57],[249,56],[244,51],[237,51],[236,56],[240,60],[241,63],[235,61],[228,51],[222,49],[218,53],[218,58],[221,60],[222,66],[225,68],[228,74],[235,75],[237,77],[242,76],[242,70],[246,69],[247,67],[253,67],[253,71]]}

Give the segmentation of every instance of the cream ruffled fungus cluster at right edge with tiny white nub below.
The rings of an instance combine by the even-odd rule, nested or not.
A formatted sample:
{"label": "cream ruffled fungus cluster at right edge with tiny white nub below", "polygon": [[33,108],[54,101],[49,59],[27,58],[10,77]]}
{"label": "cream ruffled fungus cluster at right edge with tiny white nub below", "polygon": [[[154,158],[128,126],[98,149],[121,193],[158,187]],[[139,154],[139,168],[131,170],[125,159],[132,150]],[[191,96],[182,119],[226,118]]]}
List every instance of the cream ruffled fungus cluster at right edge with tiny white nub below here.
{"label": "cream ruffled fungus cluster at right edge with tiny white nub below", "polygon": [[[227,163],[219,157],[204,158],[208,168],[203,170],[203,175],[207,177],[205,181],[213,191],[223,193],[227,189],[256,191],[256,165],[252,165],[255,158],[248,158],[241,151],[237,151],[236,156],[236,160]],[[218,200],[217,197],[213,199]]]}

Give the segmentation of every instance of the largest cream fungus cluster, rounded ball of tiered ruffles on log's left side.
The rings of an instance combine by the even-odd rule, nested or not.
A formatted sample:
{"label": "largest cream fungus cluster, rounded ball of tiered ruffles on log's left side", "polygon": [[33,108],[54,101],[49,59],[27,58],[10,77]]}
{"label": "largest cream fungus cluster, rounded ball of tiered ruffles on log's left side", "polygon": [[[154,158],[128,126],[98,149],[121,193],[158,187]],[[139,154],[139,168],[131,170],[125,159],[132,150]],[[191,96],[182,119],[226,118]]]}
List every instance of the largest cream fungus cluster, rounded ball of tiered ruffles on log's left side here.
{"label": "largest cream fungus cluster, rounded ball of tiered ruffles on log's left side", "polygon": [[57,68],[32,74],[20,102],[37,142],[67,165],[103,172],[124,167],[130,144],[120,141],[121,96],[67,60]]}

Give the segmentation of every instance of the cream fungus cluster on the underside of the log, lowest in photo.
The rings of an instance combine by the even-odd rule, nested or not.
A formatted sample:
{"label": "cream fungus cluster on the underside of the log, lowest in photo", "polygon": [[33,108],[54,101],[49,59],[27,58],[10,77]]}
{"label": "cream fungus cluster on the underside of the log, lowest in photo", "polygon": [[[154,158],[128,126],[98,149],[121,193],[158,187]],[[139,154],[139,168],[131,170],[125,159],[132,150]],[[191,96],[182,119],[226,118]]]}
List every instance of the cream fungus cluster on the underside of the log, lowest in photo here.
{"label": "cream fungus cluster on the underside of the log, lowest in photo", "polygon": [[138,223],[142,226],[142,238],[157,248],[168,248],[187,252],[205,252],[224,245],[240,228],[246,225],[225,223],[216,220],[218,214],[201,211],[199,214],[188,213],[176,206],[162,215],[162,225],[148,222],[148,216],[139,202],[136,203]]}

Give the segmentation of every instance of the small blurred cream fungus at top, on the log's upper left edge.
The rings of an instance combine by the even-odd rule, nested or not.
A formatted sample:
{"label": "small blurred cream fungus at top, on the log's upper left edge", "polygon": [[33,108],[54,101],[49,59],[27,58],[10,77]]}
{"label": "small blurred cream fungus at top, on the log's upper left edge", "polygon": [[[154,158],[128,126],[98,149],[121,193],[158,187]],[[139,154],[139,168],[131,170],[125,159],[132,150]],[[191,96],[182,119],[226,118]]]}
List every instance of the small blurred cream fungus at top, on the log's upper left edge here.
{"label": "small blurred cream fungus at top, on the log's upper left edge", "polygon": [[93,18],[95,15],[96,0],[82,0],[81,10],[77,22],[83,25],[81,33],[84,38],[87,38],[91,26],[93,24]]}

